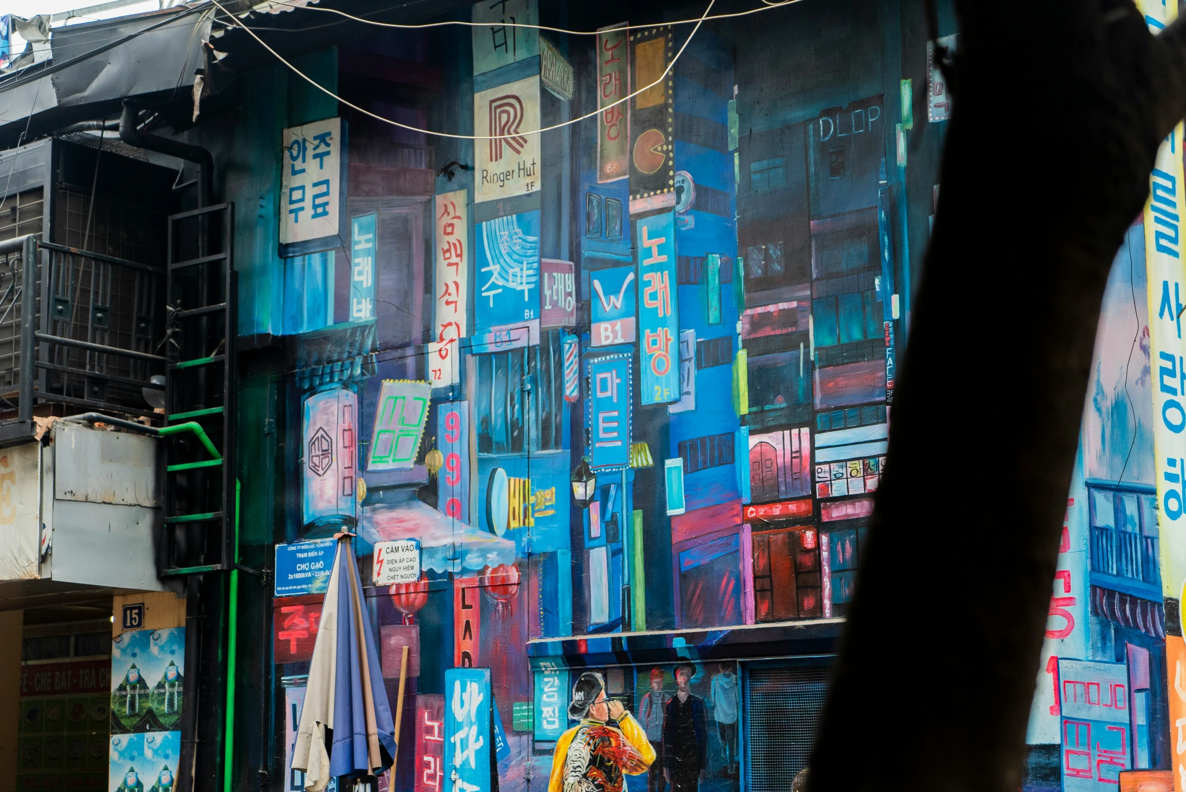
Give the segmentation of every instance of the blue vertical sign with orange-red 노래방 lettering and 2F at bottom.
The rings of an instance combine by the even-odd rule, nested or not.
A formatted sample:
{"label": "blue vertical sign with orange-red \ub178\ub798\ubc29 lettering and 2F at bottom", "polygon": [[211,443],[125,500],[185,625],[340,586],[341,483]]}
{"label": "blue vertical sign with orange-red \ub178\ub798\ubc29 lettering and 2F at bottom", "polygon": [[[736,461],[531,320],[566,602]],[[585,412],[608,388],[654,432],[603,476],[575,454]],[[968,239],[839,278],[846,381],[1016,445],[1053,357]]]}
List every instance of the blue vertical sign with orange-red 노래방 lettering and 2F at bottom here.
{"label": "blue vertical sign with orange-red \ub178\ub798\ubc29 lettering and 2F at bottom", "polygon": [[637,228],[642,397],[643,404],[665,404],[680,398],[674,216],[664,212],[644,217],[638,221]]}

